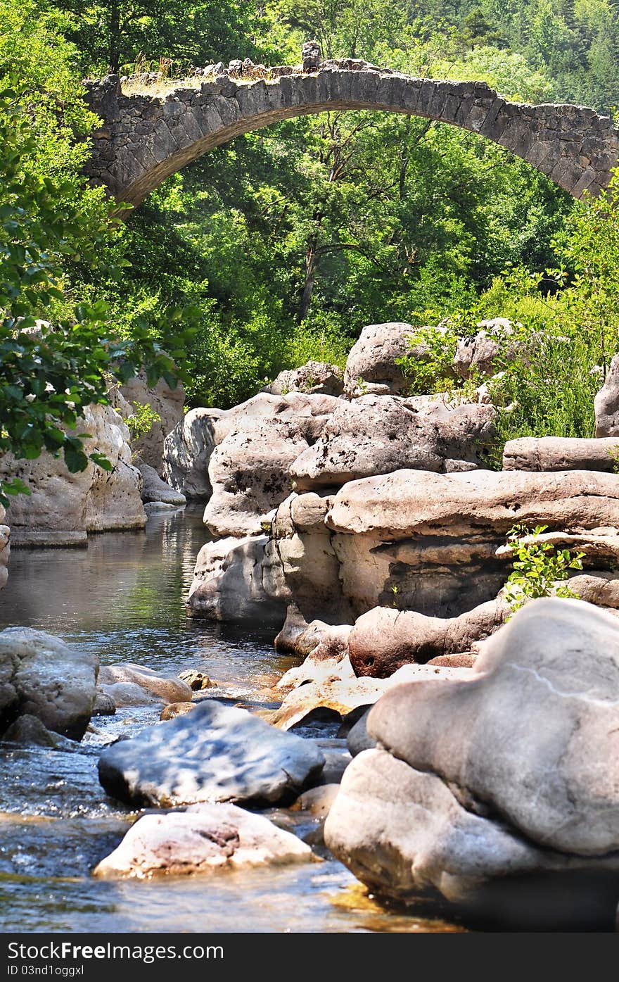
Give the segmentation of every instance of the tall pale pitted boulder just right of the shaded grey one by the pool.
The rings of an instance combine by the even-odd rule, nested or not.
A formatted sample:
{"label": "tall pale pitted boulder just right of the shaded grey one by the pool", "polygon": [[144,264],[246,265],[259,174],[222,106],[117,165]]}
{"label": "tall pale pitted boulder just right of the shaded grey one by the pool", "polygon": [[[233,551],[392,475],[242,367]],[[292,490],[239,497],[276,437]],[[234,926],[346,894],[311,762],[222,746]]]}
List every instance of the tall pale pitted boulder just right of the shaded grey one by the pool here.
{"label": "tall pale pitted boulder just right of the shaded grey one by the pool", "polygon": [[332,396],[261,393],[216,424],[209,463],[213,495],[204,522],[217,536],[259,535],[290,493],[290,464],[318,439],[338,406]]}

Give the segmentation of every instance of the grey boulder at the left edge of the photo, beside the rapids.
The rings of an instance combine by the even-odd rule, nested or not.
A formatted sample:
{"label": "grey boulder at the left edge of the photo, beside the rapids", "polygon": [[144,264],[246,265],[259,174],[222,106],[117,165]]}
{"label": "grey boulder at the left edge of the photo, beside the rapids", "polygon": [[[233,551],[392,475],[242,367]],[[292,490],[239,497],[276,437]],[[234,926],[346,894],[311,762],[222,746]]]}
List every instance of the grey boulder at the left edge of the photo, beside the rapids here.
{"label": "grey boulder at the left edge of the photo, beside the rapids", "polygon": [[0,631],[0,734],[19,716],[80,739],[90,722],[99,660],[32,627]]}

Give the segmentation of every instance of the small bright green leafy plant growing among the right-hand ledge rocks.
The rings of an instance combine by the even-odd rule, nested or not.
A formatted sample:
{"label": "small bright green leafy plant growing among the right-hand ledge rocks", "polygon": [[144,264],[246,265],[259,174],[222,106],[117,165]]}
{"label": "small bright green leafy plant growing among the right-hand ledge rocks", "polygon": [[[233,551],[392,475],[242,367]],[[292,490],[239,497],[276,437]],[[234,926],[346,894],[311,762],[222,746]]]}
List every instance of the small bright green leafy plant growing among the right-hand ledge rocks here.
{"label": "small bright green leafy plant growing among the right-hand ledge rocks", "polygon": [[[542,541],[547,525],[514,525],[507,533],[507,545],[514,556],[513,572],[505,584],[504,596],[512,611],[538,597],[574,597],[578,594],[561,585],[570,570],[582,570],[585,553],[573,555],[569,549],[555,549]],[[559,585],[557,585],[557,582]]]}

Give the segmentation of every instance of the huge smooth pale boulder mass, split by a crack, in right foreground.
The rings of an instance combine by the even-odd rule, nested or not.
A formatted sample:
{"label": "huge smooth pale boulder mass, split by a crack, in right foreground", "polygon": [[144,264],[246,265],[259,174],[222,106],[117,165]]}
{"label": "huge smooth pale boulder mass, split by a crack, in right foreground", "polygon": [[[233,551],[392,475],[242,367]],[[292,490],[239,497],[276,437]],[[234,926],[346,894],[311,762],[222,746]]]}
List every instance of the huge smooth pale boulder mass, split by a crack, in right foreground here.
{"label": "huge smooth pale boulder mass, split by a crack, in right foreground", "polygon": [[433,887],[477,902],[492,881],[508,894],[515,876],[542,873],[561,874],[565,891],[582,871],[593,890],[612,874],[614,911],[618,706],[617,619],[579,600],[533,601],[466,678],[394,686],[373,707],[380,748],[348,768],[327,845],[392,897]]}

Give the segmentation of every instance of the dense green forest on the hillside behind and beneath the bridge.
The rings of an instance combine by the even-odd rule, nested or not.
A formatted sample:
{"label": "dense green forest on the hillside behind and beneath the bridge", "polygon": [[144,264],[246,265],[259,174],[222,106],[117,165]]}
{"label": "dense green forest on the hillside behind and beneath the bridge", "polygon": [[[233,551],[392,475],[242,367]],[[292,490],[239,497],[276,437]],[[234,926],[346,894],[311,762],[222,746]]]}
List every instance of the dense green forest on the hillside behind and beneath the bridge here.
{"label": "dense green forest on the hillside behind and beneath the bridge", "polygon": [[[617,347],[614,191],[600,210],[479,136],[415,117],[331,112],[240,136],[165,182],[125,223],[110,221],[103,192],[81,177],[96,121],[80,81],[110,71],[182,78],[245,56],[295,64],[302,42],[317,38],[326,57],[612,114],[618,17],[610,0],[0,0],[3,163],[31,185],[2,192],[0,303],[13,316],[5,336],[15,316],[30,315],[72,325],[74,341],[76,325],[94,331],[102,348],[89,347],[100,353],[106,338],[120,339],[135,364],[157,361],[153,343],[178,358],[184,350],[190,405],[227,408],[282,368],[341,364],[368,323],[451,318],[462,334],[482,316],[510,316],[525,333],[544,327],[574,347],[566,357],[563,340],[546,353],[553,388],[570,393],[559,403],[547,375],[532,376],[537,363],[512,369],[504,384],[510,397],[517,390],[520,416],[507,431],[590,435],[595,366]],[[34,200],[37,183],[64,216],[58,228]],[[15,246],[16,215],[37,226],[38,251]],[[155,371],[168,370],[158,357]],[[441,357],[437,387],[452,384]],[[92,364],[73,370],[65,422],[80,374],[94,377]],[[89,399],[104,398],[95,390],[92,382]],[[44,391],[36,396],[44,409]],[[33,411],[15,394],[4,399],[5,415]],[[16,426],[5,450],[61,440],[57,431],[46,442],[42,416],[38,436]]]}

